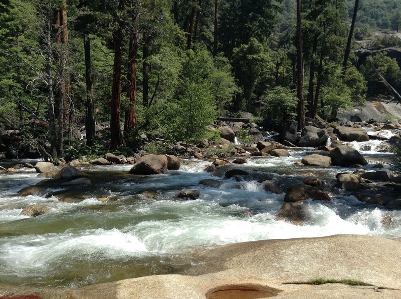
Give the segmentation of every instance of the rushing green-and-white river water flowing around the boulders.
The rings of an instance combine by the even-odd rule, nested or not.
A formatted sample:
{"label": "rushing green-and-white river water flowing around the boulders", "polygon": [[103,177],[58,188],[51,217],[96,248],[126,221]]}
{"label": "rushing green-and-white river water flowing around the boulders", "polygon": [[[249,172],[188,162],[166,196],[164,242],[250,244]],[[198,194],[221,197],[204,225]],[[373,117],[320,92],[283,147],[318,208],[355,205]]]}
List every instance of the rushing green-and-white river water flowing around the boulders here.
{"label": "rushing green-and-white river water flowing around the boulders", "polygon": [[[389,157],[372,151],[374,143],[364,153],[368,160]],[[252,158],[238,167],[274,173],[273,180],[310,172],[332,180],[349,171],[293,166],[310,152]],[[329,202],[307,200],[310,218],[303,226],[276,221],[284,193],[266,192],[257,180],[232,178],[218,188],[198,185],[202,179],[222,179],[205,172],[207,165],[182,160],[179,171],[153,176],[128,175],[129,165],[82,168],[92,173],[95,187],[79,187],[88,195],[78,203],[19,196],[18,190],[41,180],[33,170],[0,175],[0,282],[77,287],[171,273],[196,263],[190,256],[194,250],[251,240],[345,233],[401,238],[401,211],[362,203],[347,192],[332,195]],[[184,188],[201,195],[177,199]],[[142,191],[153,191],[157,198]],[[35,218],[21,215],[25,206],[36,203],[46,204],[50,212]]]}

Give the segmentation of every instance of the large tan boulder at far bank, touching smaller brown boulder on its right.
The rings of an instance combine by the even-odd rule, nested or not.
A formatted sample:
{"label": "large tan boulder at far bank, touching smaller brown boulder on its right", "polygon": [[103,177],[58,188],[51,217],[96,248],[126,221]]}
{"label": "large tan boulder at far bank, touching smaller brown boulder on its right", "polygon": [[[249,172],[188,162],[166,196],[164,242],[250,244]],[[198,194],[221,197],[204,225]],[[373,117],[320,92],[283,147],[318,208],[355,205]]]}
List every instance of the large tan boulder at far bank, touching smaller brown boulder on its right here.
{"label": "large tan boulder at far bank, touching smaller brown boulder on its right", "polygon": [[167,171],[167,157],[164,155],[142,156],[132,166],[131,174],[160,174]]}

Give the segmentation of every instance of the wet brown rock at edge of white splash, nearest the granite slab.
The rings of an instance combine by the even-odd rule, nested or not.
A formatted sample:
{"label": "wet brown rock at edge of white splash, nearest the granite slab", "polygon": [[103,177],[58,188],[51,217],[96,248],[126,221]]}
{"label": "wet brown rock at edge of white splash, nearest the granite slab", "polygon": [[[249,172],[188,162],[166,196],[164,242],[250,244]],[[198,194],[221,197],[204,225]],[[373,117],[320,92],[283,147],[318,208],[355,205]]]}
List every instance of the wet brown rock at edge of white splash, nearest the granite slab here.
{"label": "wet brown rock at edge of white splash, nearest the granite slab", "polygon": [[288,221],[294,225],[304,225],[310,219],[310,212],[301,202],[286,202],[277,212],[276,221]]}

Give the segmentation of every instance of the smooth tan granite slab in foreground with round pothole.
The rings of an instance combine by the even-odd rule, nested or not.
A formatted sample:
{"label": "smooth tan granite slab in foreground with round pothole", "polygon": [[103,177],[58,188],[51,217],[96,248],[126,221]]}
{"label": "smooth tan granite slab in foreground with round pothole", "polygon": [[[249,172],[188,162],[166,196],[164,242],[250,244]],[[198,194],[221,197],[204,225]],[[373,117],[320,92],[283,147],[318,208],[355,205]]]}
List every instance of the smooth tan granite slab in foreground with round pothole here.
{"label": "smooth tan granite slab in foreground with round pothole", "polygon": [[[400,255],[399,241],[357,235],[245,242],[195,252],[193,260],[197,265],[182,273],[78,289],[0,285],[0,296],[35,299],[398,298],[401,296]],[[310,284],[316,279],[323,284]],[[330,281],[338,283],[325,283]]]}

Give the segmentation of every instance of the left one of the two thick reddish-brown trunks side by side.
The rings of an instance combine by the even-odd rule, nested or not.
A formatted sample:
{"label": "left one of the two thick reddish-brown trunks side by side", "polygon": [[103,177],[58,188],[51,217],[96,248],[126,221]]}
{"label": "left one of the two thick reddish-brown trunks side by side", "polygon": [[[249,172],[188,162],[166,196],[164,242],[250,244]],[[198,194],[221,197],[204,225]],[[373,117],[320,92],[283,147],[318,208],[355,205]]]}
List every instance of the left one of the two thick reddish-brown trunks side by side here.
{"label": "left one of the two thick reddish-brown trunks side by side", "polygon": [[[120,9],[123,9],[124,2],[120,2]],[[111,93],[111,119],[110,119],[110,149],[116,150],[124,144],[121,134],[120,124],[120,104],[121,104],[121,57],[122,57],[122,24],[113,32],[114,43],[114,64],[113,64],[113,87]]]}

